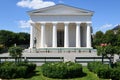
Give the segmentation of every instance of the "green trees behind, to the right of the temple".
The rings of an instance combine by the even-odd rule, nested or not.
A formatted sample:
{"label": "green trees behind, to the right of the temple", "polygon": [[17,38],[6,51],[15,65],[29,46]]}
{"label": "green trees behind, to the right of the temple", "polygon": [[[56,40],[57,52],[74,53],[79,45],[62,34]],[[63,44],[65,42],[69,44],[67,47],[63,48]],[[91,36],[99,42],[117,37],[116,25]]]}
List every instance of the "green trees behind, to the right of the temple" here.
{"label": "green trees behind, to the right of the temple", "polygon": [[100,46],[101,43],[120,46],[120,29],[115,33],[113,30],[107,30],[105,33],[98,31],[93,37],[93,47]]}

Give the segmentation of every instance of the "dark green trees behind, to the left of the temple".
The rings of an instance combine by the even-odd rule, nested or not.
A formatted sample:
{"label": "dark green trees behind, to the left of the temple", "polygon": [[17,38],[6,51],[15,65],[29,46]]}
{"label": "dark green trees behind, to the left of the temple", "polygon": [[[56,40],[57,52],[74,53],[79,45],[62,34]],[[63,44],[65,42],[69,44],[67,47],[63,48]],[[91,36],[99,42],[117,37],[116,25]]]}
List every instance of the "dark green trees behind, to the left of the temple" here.
{"label": "dark green trees behind, to the left of the temple", "polygon": [[20,32],[14,33],[12,31],[0,30],[0,44],[5,47],[10,47],[14,44],[23,45],[29,44],[30,34]]}

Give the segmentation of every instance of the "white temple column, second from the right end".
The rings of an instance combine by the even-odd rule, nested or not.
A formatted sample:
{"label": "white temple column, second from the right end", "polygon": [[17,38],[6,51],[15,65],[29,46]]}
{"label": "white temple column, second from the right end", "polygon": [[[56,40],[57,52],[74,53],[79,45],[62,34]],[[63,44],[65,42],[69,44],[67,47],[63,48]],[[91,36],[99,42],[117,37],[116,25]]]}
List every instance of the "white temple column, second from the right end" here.
{"label": "white temple column, second from the right end", "polygon": [[80,23],[76,23],[76,47],[81,47]]}

